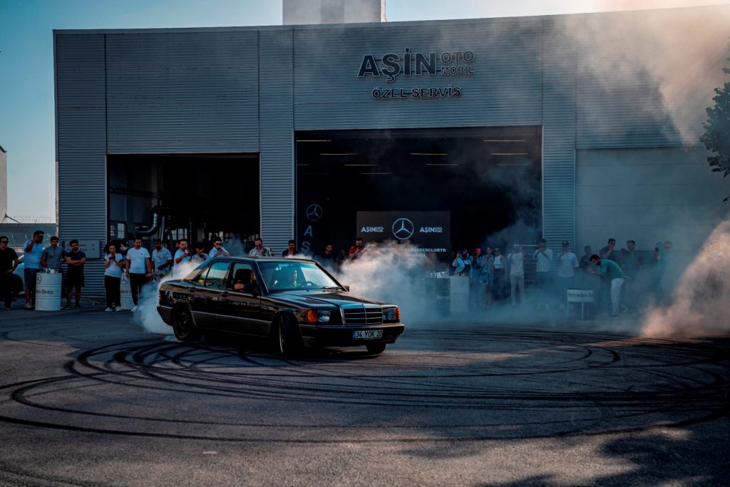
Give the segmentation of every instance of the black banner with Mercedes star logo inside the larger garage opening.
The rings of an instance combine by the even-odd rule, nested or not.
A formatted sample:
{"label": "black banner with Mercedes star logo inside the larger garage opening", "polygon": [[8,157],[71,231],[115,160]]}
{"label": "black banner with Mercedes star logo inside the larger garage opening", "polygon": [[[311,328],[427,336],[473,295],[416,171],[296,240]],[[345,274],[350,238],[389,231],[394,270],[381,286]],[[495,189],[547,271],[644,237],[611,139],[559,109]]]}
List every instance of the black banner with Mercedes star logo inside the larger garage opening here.
{"label": "black banner with Mercedes star logo inside the larger garage opening", "polygon": [[357,212],[356,235],[367,242],[400,242],[407,254],[449,258],[450,212]]}

